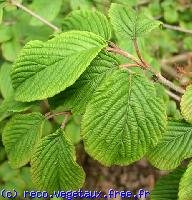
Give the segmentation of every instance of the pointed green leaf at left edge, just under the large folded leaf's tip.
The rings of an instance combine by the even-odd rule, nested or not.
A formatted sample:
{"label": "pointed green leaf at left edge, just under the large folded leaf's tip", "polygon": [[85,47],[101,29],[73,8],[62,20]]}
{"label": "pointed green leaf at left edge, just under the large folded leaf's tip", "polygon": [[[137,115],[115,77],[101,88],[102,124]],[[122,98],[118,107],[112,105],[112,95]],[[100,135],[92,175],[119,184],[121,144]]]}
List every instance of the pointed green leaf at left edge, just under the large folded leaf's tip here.
{"label": "pointed green leaf at left edge, just under the large folded leaf's tip", "polygon": [[9,117],[13,113],[22,112],[28,110],[33,104],[18,102],[14,100],[14,96],[10,96],[3,100],[0,104],[0,121]]}

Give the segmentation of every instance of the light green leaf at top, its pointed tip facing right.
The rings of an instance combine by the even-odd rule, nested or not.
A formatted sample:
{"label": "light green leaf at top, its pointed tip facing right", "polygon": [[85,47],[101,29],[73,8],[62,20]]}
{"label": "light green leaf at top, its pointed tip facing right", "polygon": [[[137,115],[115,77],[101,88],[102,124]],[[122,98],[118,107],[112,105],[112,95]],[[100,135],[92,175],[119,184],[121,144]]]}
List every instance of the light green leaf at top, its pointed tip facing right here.
{"label": "light green leaf at top, its pointed tip facing right", "polygon": [[131,7],[115,3],[111,5],[109,16],[116,35],[123,38],[141,37],[162,24]]}

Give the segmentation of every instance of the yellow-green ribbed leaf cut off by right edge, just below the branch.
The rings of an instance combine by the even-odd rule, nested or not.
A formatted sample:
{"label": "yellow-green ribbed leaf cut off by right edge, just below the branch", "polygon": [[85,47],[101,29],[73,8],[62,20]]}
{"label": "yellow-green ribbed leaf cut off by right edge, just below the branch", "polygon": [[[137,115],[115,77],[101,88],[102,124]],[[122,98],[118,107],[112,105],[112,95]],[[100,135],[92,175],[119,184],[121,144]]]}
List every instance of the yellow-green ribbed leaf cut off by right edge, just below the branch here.
{"label": "yellow-green ribbed leaf cut off by right edge, just below the branch", "polygon": [[181,113],[184,119],[192,123],[192,85],[189,85],[181,98]]}

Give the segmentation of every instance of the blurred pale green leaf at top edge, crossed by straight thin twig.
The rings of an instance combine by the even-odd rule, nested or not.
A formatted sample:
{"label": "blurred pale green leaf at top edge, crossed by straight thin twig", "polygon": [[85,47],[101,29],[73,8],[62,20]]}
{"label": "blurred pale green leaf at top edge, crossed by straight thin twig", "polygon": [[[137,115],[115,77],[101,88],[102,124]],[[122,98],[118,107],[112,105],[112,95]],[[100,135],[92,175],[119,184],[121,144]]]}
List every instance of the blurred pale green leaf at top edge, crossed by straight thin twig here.
{"label": "blurred pale green leaf at top edge, crossed by straight thin twig", "polygon": [[[33,0],[31,8],[36,14],[45,18],[47,21],[53,21],[59,14],[61,5],[62,0],[54,0],[48,3],[45,0]],[[42,25],[42,22],[31,18],[31,25]]]}

